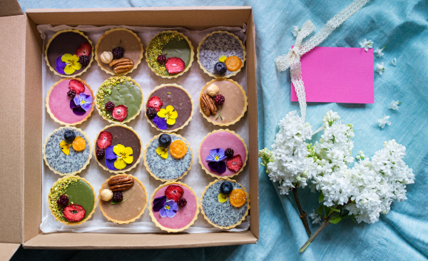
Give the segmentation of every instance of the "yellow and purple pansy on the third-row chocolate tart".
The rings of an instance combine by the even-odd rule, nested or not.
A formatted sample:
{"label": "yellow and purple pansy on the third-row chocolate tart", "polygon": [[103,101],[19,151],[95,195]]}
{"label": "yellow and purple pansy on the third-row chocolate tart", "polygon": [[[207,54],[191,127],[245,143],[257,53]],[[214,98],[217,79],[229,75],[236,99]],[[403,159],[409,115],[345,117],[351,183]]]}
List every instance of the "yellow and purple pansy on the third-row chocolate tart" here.
{"label": "yellow and purple pansy on the third-row chocolate tart", "polygon": [[133,163],[133,151],[131,147],[122,144],[106,148],[106,166],[109,170],[121,170],[127,164]]}

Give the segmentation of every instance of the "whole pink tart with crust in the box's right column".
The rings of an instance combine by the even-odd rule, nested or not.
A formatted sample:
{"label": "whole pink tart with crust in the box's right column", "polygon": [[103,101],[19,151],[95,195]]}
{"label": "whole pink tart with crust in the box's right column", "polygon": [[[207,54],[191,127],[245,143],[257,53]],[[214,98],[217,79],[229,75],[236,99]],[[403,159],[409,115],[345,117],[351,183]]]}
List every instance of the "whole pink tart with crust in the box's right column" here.
{"label": "whole pink tart with crust in the box's right column", "polygon": [[[241,156],[243,166],[237,172],[226,168],[225,173],[222,174],[211,170],[208,166],[208,161],[206,158],[210,154],[210,150],[215,148],[223,148],[224,150],[227,148],[233,149],[233,155],[239,154]],[[238,175],[241,171],[243,171],[245,165],[247,164],[247,145],[245,145],[243,138],[240,138],[240,135],[235,133],[235,131],[230,131],[228,129],[215,130],[211,133],[208,133],[208,135],[206,135],[205,138],[203,138],[203,140],[200,142],[198,158],[200,166],[208,175],[211,175],[214,178],[232,178],[233,176]],[[227,160],[228,158],[223,161],[227,162]]]}

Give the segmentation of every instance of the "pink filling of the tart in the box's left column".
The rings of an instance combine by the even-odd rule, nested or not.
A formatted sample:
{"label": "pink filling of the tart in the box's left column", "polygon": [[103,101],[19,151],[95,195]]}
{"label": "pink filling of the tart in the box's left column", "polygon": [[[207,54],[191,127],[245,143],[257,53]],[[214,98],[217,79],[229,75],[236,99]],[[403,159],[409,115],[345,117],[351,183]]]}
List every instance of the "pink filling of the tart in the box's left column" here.
{"label": "pink filling of the tart in the box's left column", "polygon": [[[54,114],[55,118],[63,123],[78,123],[82,121],[90,111],[86,111],[82,116],[77,116],[73,113],[73,109],[70,108],[71,97],[68,97],[67,92],[70,91],[68,83],[70,80],[61,81],[51,91],[49,96],[49,108]],[[86,95],[92,95],[91,91],[85,86]]]}

